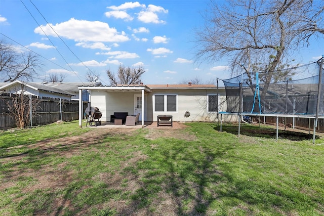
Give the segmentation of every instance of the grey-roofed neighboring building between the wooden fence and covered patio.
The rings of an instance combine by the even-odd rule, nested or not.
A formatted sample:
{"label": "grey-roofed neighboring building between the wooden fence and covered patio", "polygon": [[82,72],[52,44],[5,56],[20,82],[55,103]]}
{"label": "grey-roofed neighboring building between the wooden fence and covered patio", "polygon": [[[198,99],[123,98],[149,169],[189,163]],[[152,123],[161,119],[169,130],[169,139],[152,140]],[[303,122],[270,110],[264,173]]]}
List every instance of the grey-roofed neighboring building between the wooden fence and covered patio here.
{"label": "grey-roofed neighboring building between the wooden fence and covered patio", "polygon": [[[74,95],[72,100],[79,100],[79,86],[98,87],[102,84],[101,82],[46,82],[44,85],[69,92]],[[89,92],[87,90],[82,91],[82,100],[89,101]]]}

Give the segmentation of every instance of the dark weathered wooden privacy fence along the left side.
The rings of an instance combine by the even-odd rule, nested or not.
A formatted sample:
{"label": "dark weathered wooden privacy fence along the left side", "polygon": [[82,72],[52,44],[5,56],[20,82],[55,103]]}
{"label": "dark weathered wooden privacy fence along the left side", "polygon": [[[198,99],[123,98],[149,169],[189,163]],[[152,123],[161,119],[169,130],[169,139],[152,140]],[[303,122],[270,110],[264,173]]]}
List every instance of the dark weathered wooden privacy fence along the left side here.
{"label": "dark weathered wooden privacy fence along the left side", "polygon": [[[28,96],[26,96],[28,97]],[[58,98],[37,98],[28,97],[29,103],[35,105],[35,111],[32,112],[32,118],[26,126],[45,125],[62,121],[73,121],[79,118],[79,102],[72,100],[63,100]],[[11,94],[0,94],[0,129],[16,127],[13,114],[10,113],[13,96]],[[83,102],[83,110],[87,108],[88,102]],[[30,106],[30,105],[29,105]],[[12,109],[12,108],[11,108]],[[31,123],[30,123],[31,122]]]}

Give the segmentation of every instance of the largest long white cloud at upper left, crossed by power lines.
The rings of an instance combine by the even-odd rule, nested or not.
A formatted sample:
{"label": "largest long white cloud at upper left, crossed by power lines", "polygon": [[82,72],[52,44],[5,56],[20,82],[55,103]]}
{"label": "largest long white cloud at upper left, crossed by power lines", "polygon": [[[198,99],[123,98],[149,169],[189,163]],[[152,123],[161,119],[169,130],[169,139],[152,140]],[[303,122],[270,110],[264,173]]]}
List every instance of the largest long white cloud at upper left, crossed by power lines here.
{"label": "largest long white cloud at upper left, crossed by power lines", "polygon": [[124,31],[119,33],[115,28],[110,28],[108,23],[74,18],[55,25],[41,25],[35,28],[34,32],[41,35],[44,35],[45,32],[47,35],[57,37],[50,25],[60,36],[74,41],[123,42],[130,40]]}

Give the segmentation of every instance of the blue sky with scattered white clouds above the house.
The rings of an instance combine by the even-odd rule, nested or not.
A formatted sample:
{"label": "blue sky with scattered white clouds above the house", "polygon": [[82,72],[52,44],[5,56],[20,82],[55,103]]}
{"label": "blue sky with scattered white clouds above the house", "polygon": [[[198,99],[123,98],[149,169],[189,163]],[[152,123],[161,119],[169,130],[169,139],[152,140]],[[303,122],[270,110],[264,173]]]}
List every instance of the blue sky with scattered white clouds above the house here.
{"label": "blue sky with scattered white clouds above the house", "polygon": [[[43,66],[34,81],[62,73],[64,81],[85,82],[90,69],[108,85],[105,71],[117,71],[123,64],[142,65],[144,84],[177,84],[195,77],[210,82],[229,78],[230,71],[226,60],[195,62],[194,29],[204,25],[200,13],[208,3],[0,0],[0,32],[50,60],[39,58]],[[3,35],[0,38],[25,50]],[[318,44],[323,42],[301,50],[299,62],[318,60],[324,53]]]}

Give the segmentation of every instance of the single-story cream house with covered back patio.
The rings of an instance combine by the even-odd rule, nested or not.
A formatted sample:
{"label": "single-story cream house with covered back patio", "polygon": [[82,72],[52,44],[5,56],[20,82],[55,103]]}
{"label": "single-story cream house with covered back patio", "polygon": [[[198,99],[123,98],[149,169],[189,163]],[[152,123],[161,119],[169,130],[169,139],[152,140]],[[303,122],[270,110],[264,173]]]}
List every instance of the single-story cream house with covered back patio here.
{"label": "single-story cream house with covered back patio", "polygon": [[226,111],[225,88],[213,84],[79,87],[79,94],[84,90],[90,92],[91,106],[102,112],[102,121],[110,121],[114,112],[140,113],[142,125],[158,115],[172,115],[173,121],[217,121],[217,112]]}

